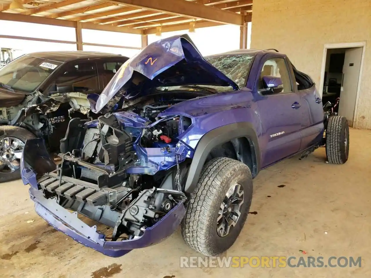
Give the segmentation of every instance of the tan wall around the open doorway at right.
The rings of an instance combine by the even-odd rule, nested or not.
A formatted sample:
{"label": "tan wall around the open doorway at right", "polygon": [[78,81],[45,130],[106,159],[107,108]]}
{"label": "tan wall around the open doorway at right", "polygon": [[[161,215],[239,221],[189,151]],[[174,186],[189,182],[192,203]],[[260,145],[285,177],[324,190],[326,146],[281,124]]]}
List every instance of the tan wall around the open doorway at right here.
{"label": "tan wall around the open doorway at right", "polygon": [[366,42],[355,126],[371,129],[371,0],[254,0],[251,48],[276,48],[319,88],[326,43]]}

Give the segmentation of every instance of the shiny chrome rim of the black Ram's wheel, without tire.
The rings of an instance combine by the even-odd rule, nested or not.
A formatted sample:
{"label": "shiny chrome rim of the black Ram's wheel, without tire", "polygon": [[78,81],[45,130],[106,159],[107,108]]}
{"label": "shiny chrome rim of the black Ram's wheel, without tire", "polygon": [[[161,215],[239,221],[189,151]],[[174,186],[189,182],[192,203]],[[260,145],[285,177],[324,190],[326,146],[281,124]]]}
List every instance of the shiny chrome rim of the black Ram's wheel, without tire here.
{"label": "shiny chrome rim of the black Ram's wheel, without tire", "polygon": [[24,142],[15,137],[0,138],[0,172],[12,173],[20,168]]}

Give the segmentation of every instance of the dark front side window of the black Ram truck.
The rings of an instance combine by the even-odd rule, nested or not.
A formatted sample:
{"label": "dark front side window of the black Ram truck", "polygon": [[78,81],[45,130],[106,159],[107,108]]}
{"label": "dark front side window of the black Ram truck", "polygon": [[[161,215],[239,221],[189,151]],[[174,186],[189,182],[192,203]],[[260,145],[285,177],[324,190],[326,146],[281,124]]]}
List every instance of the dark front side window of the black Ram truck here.
{"label": "dark front side window of the black Ram truck", "polygon": [[59,75],[55,84],[61,86],[72,86],[74,92],[98,91],[98,73],[94,62],[79,62],[69,64]]}

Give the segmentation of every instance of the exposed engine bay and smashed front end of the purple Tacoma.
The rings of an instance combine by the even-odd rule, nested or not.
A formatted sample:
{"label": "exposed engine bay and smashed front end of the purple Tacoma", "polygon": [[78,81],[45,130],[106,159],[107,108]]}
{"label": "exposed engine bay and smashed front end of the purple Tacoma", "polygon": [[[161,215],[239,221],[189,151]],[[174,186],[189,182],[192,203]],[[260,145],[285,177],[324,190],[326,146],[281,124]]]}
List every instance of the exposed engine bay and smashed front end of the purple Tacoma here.
{"label": "exposed engine bay and smashed front end of the purple Tacoma", "polygon": [[158,117],[184,100],[160,94],[126,103],[95,121],[70,120],[60,140],[61,164],[38,180],[45,196],[113,228],[112,241],[141,236],[187,201],[190,163],[179,155],[184,146],[177,137],[191,119]]}

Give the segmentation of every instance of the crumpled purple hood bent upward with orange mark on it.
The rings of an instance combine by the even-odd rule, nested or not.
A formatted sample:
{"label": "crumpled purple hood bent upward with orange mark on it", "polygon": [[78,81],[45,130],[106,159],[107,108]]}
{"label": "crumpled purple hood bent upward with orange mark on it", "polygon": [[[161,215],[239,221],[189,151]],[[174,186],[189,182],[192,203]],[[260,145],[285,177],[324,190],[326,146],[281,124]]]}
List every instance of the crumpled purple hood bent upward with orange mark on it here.
{"label": "crumpled purple hood bent upward with orange mark on it", "polygon": [[111,112],[123,97],[148,95],[155,87],[183,85],[232,86],[236,83],[204,60],[188,35],[173,36],[149,44],[125,62],[98,97],[94,113]]}

